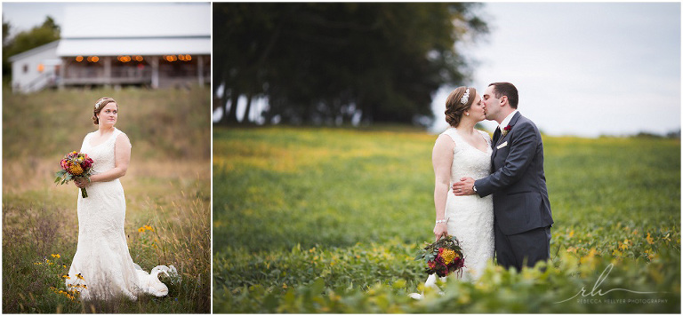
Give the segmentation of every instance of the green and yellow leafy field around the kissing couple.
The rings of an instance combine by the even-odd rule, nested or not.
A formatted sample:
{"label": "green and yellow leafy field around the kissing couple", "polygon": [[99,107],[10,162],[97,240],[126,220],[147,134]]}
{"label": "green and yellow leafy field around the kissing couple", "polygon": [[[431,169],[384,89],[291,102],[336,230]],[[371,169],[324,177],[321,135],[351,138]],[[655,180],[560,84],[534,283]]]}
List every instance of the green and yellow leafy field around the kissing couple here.
{"label": "green and yellow leafy field around the kissing couple", "polygon": [[679,139],[544,138],[549,264],[409,298],[435,139],[214,128],[213,312],[680,312]]}

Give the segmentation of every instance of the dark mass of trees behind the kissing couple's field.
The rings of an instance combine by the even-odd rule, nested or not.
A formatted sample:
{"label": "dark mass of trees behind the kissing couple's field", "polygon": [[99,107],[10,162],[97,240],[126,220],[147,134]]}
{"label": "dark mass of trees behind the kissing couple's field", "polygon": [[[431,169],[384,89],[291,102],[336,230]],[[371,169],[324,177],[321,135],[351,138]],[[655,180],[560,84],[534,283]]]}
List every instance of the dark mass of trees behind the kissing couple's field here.
{"label": "dark mass of trees behind the kissing couple's field", "polygon": [[237,122],[241,96],[268,98],[267,122],[432,118],[434,92],[469,74],[454,44],[487,32],[475,5],[215,3],[222,122]]}

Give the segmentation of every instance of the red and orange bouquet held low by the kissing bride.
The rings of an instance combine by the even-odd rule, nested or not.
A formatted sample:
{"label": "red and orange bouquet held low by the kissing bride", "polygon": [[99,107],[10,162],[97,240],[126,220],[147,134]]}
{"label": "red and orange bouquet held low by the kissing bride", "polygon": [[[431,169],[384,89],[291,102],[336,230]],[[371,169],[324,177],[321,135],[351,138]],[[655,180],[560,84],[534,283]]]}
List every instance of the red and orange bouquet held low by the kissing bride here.
{"label": "red and orange bouquet held low by the kissing bride", "polygon": [[465,265],[460,241],[451,235],[427,244],[420,250],[415,260],[424,260],[427,264],[424,272],[437,273],[439,277],[445,277],[450,273],[460,273],[462,276],[462,267]]}

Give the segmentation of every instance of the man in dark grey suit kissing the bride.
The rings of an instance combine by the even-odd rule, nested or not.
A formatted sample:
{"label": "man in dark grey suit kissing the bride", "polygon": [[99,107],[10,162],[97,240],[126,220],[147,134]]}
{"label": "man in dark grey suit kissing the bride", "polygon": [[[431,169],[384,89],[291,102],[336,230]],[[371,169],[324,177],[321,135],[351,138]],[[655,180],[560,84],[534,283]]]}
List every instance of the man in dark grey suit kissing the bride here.
{"label": "man in dark grey suit kissing the bride", "polygon": [[512,83],[491,83],[482,101],[486,119],[498,122],[486,178],[461,178],[455,195],[494,194],[495,257],[505,268],[550,258],[552,214],[543,172],[543,143],[534,122],[519,114]]}

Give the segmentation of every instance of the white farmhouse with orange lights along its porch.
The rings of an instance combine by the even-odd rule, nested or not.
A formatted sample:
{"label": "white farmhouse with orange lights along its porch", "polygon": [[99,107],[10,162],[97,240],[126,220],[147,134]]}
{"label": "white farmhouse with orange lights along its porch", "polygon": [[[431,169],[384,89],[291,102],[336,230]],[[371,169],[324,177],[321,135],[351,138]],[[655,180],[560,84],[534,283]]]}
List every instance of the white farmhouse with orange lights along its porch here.
{"label": "white farmhouse with orange lights along its porch", "polygon": [[[211,4],[75,3],[65,8],[63,24],[59,42],[12,57],[14,91],[99,85],[164,88],[211,82]],[[60,60],[52,67],[52,79],[41,81],[42,86],[33,83],[39,79],[15,75],[23,70],[20,61],[34,58],[38,51],[53,51]],[[54,64],[54,57],[43,64]]]}

